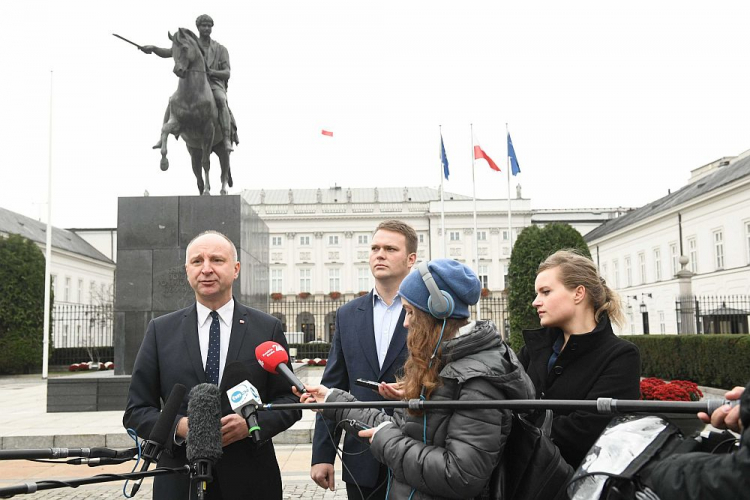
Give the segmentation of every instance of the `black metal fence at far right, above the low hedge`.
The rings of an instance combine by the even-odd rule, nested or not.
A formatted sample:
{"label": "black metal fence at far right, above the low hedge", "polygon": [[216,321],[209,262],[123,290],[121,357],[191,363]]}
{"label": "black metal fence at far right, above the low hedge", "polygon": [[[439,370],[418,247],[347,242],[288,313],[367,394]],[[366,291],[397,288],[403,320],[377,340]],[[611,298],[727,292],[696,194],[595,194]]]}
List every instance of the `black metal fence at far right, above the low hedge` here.
{"label": "black metal fence at far right, above the low hedge", "polygon": [[675,301],[677,333],[748,333],[750,296],[689,296]]}

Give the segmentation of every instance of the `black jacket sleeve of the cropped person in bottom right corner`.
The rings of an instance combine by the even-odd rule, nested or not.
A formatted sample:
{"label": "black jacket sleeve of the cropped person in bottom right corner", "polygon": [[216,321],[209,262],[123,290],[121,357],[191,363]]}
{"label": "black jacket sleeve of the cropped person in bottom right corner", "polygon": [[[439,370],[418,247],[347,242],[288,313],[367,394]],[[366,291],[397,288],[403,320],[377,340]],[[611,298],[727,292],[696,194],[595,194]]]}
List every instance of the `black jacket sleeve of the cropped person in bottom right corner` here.
{"label": "black jacket sleeve of the cropped person in bottom right corner", "polygon": [[683,453],[658,462],[647,481],[662,500],[747,498],[750,492],[750,384],[741,399],[744,431],[731,454]]}

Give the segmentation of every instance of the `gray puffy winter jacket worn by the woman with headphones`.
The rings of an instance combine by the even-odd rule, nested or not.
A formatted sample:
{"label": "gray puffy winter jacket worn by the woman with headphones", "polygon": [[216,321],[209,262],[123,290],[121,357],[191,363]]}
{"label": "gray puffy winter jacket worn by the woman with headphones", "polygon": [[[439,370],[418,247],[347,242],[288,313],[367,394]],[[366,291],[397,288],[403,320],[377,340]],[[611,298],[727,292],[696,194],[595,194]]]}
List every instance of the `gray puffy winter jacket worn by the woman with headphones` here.
{"label": "gray puffy winter jacket worn by the woman with headphones", "polygon": [[[464,333],[468,330],[468,333]],[[430,401],[531,399],[534,386],[491,321],[471,323],[443,344],[442,385]],[[327,401],[355,401],[333,390]],[[499,464],[510,433],[508,410],[430,410],[423,417],[396,410],[393,417],[374,409],[332,409],[323,416],[355,419],[371,427],[386,420],[370,451],[392,471],[388,499],[462,498],[482,494]],[[348,427],[348,426],[345,426]],[[347,431],[356,432],[347,428]],[[424,442],[426,440],[426,443]]]}

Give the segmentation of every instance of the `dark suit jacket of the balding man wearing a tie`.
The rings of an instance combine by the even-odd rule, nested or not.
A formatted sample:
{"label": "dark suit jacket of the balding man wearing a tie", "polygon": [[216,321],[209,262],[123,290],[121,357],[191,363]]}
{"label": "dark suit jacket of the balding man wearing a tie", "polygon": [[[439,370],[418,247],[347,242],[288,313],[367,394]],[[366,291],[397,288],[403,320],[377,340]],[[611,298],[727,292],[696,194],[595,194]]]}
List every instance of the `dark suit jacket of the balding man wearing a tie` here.
{"label": "dark suit jacket of the balding man wearing a tie", "polygon": [[[264,403],[295,403],[295,397],[284,378],[266,372],[255,358],[255,347],[272,340],[284,348],[286,337],[278,319],[235,300],[232,331],[226,363],[240,361],[249,374],[249,381],[260,393]],[[133,428],[142,438],[151,434],[159,418],[161,402],[166,401],[175,384],[183,384],[188,392],[206,382],[206,375],[198,344],[198,316],[196,306],[151,320],[133,366],[128,391],[128,402],[123,425]],[[227,384],[221,382],[222,414],[232,413],[226,397]],[[188,397],[182,402],[170,435],[180,418],[187,415]],[[281,474],[271,438],[288,429],[302,416],[300,411],[262,411],[258,413],[261,442],[254,444],[242,439],[223,448],[222,458],[214,466],[214,481],[207,492],[210,498],[282,497]],[[185,446],[171,439],[161,454],[160,467],[180,467],[187,463]],[[154,479],[154,498],[184,500],[188,497],[189,478],[186,475],[165,475]],[[191,498],[196,498],[195,488]],[[261,491],[262,490],[262,491]]]}

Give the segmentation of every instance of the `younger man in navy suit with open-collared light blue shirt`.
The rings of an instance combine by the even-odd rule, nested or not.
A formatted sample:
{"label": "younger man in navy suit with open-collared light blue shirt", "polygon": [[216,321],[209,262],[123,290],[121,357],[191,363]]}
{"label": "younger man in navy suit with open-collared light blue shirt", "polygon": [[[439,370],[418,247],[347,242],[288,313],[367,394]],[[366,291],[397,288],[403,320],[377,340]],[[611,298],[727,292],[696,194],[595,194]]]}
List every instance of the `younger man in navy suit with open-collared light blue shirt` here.
{"label": "younger man in navy suit with open-collared light blue shirt", "polygon": [[[375,288],[341,307],[321,384],[352,393],[360,401],[379,401],[397,394],[393,383],[407,357],[404,312],[398,287],[417,258],[417,233],[408,224],[388,220],[372,237],[370,271]],[[379,392],[354,384],[358,378],[381,383]],[[387,385],[390,384],[390,385]],[[341,429],[317,417],[310,477],[333,490],[336,446]],[[375,460],[356,436],[344,440],[344,473],[350,499],[385,498],[387,468]]]}

